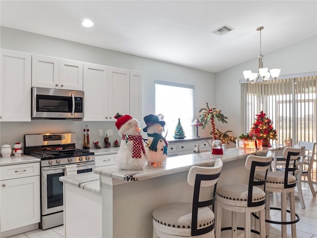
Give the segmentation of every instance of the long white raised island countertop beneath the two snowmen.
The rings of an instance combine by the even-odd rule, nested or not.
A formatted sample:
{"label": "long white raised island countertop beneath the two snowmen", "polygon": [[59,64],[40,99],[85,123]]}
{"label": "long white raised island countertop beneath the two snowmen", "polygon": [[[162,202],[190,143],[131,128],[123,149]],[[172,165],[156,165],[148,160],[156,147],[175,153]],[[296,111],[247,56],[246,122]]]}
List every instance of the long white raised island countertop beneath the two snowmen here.
{"label": "long white raised island countertop beneath the two snowmen", "polygon": [[145,165],[139,171],[124,171],[120,170],[116,165],[99,167],[94,170],[95,174],[119,179],[123,181],[137,181],[144,179],[156,178],[159,176],[174,174],[178,172],[188,171],[190,167],[196,166],[213,166],[215,159],[220,158],[223,163],[233,160],[246,158],[248,155],[264,155],[268,150],[281,150],[285,146],[264,147],[263,150],[255,149],[225,149],[223,155],[213,155],[211,152],[180,155],[175,157],[167,157],[160,167]]}

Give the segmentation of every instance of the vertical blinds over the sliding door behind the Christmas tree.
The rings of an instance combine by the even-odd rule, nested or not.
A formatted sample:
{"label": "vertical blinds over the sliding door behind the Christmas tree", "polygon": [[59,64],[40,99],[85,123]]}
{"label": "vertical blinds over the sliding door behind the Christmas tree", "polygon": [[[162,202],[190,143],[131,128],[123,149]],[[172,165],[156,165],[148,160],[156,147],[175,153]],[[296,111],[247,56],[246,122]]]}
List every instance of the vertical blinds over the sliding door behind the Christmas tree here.
{"label": "vertical blinds over the sliding door behind the Christmas tree", "polygon": [[274,144],[316,142],[316,88],[316,75],[241,84],[243,133],[250,131],[263,111],[277,131]]}

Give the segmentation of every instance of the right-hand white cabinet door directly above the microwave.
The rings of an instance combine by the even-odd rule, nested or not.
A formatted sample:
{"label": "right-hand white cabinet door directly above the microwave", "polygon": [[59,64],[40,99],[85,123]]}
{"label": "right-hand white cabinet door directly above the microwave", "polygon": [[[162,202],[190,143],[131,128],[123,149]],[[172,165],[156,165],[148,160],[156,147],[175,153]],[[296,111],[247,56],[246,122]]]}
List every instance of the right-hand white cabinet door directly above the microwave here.
{"label": "right-hand white cabinet door directly above the microwave", "polygon": [[59,60],[60,89],[83,91],[83,62]]}

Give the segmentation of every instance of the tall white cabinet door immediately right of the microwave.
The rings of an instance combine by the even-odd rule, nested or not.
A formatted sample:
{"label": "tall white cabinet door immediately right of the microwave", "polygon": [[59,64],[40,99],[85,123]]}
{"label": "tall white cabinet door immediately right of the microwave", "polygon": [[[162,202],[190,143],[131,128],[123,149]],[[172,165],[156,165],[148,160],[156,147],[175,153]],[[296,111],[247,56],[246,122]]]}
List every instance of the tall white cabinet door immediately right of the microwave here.
{"label": "tall white cabinet door immediately right of the microwave", "polygon": [[106,120],[108,113],[107,79],[108,69],[105,65],[84,63],[84,120]]}

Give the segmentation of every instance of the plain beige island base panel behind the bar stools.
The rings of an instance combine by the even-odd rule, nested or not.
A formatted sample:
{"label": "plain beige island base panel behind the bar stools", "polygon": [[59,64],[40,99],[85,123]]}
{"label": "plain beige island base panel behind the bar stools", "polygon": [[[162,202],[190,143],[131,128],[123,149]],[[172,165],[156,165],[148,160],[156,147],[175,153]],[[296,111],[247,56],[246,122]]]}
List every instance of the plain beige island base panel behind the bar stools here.
{"label": "plain beige island base panel behind the bar stools", "polygon": [[[223,163],[217,186],[233,181],[247,182],[249,174],[245,168],[245,158]],[[156,207],[169,202],[192,201],[193,188],[187,183],[187,175],[188,171],[183,171],[121,184],[118,179],[101,176],[103,180],[103,237],[152,237],[152,211]],[[112,185],[109,184],[109,179],[112,180]],[[117,182],[118,185],[113,185]],[[206,190],[202,190],[202,194],[204,192]],[[228,220],[230,220],[230,214],[224,212],[222,224],[224,226],[229,224]]]}

